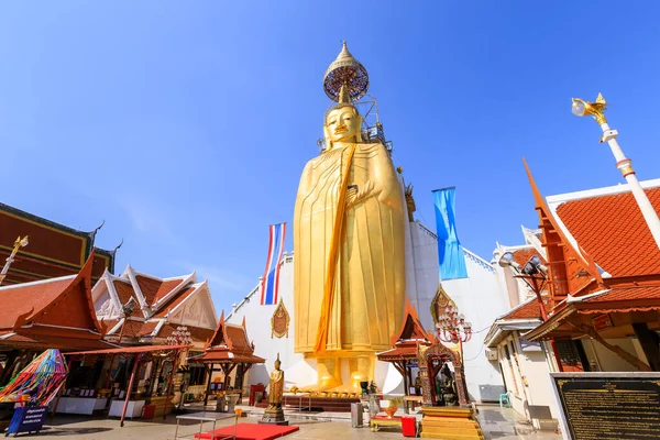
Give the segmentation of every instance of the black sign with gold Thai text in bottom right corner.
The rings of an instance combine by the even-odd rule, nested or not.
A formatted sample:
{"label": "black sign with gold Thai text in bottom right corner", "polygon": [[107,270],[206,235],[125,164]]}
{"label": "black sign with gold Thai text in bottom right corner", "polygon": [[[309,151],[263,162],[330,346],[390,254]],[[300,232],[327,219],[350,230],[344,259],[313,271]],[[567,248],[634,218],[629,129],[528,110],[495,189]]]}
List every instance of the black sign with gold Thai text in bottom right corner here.
{"label": "black sign with gold Thai text in bottom right corner", "polygon": [[657,439],[660,375],[552,374],[573,440]]}

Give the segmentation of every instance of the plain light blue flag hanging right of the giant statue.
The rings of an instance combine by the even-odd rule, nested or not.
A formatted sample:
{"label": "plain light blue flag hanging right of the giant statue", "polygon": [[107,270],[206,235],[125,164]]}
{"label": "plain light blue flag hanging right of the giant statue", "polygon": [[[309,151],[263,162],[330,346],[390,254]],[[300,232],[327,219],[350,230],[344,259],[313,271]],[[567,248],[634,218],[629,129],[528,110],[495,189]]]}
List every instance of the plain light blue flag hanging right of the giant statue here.
{"label": "plain light blue flag hanging right of the giant statue", "polygon": [[466,278],[465,254],[457,233],[455,188],[436,189],[433,198],[440,279]]}

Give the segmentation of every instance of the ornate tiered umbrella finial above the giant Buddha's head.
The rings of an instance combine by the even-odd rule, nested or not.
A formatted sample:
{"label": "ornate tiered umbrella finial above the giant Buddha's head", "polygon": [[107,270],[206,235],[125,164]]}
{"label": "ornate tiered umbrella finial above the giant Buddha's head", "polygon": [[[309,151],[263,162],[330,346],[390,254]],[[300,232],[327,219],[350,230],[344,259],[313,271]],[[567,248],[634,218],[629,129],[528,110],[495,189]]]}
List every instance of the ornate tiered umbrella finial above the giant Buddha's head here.
{"label": "ornate tiered umbrella finial above the giant Buddha's head", "polygon": [[333,101],[340,102],[342,87],[345,87],[351,102],[362,98],[369,89],[369,74],[364,66],[351,55],[346,42],[343,42],[337,59],[332,62],[323,76],[323,89],[328,98]]}

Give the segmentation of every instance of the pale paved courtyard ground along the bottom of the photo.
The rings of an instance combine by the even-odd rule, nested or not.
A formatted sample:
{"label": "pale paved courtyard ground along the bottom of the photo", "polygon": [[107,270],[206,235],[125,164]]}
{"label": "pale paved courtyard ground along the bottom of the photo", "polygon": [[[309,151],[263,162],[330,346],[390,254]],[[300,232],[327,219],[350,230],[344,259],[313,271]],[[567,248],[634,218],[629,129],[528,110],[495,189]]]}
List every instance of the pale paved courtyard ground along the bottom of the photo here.
{"label": "pale paved courtyard ground along the bottom of the photo", "polygon": [[[255,422],[256,417],[241,418],[243,422]],[[515,415],[510,409],[499,409],[497,407],[480,408],[480,421],[486,439],[528,439],[528,440],[560,440],[561,436],[543,432],[535,433],[532,429],[524,424],[516,421]],[[44,430],[38,436],[21,435],[20,437],[43,437],[57,439],[141,439],[141,440],[170,440],[174,439],[175,418],[169,416],[165,422],[162,419],[152,421],[136,419],[134,421],[127,420],[123,428],[119,427],[119,420],[108,418],[89,418],[59,416],[53,422],[47,422]],[[229,422],[221,422],[218,426],[227,426]],[[400,431],[383,429],[378,432],[371,432],[369,428],[355,429],[348,421],[322,421],[310,419],[295,419],[292,425],[300,427],[298,432],[295,432],[287,438],[294,440],[301,439],[341,439],[341,440],[358,440],[358,439],[400,439]],[[207,425],[210,429],[210,425]],[[193,439],[198,432],[199,425],[187,422],[179,430],[179,437],[186,436]]]}

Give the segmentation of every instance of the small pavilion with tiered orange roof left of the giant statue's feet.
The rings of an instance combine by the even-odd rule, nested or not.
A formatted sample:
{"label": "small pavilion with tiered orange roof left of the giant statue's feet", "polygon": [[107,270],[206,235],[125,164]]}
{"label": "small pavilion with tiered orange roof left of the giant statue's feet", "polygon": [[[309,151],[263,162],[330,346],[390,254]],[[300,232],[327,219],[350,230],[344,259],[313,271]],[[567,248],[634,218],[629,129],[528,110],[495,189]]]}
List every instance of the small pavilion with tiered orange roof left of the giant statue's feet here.
{"label": "small pavilion with tiered orange roof left of the giant statue's feet", "polygon": [[[205,405],[208,402],[208,396],[211,386],[211,376],[215,371],[220,371],[224,374],[223,389],[227,389],[229,375],[238,366],[237,383],[234,388],[242,388],[243,375],[253,364],[263,364],[265,359],[254,355],[254,343],[248,339],[248,330],[245,327],[245,318],[241,326],[228,323],[224,321],[224,311],[218,321],[218,328],[213,338],[207,343],[204,354],[189,358],[197,362],[209,365],[209,380],[207,383],[207,394]],[[215,369],[215,365],[220,365],[220,369]]]}

